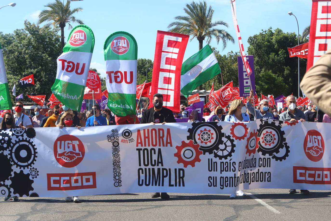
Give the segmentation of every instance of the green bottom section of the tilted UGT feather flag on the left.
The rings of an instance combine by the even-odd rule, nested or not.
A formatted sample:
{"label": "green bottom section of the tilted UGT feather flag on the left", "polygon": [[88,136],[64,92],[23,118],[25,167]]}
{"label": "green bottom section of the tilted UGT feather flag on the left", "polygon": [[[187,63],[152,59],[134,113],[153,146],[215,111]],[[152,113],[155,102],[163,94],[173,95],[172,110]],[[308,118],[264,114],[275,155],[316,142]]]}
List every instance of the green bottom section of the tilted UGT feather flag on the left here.
{"label": "green bottom section of the tilted UGT feather flag on the left", "polygon": [[55,79],[51,87],[53,94],[62,104],[77,111],[80,110],[83,102],[84,89],[84,85],[61,81],[59,79]]}

